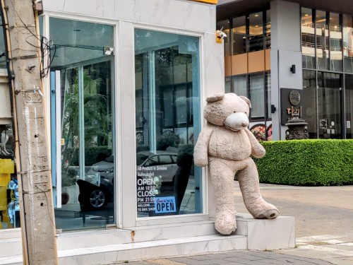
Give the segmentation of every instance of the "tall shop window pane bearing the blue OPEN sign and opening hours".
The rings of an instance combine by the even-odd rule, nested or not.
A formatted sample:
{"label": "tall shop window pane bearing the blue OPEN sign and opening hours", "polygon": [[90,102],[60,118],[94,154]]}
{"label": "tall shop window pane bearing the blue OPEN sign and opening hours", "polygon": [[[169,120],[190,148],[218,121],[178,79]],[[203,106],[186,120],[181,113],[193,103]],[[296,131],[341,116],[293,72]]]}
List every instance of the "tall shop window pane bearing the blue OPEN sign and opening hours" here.
{"label": "tall shop window pane bearing the blue OPEN sign and opening hours", "polygon": [[202,213],[199,39],[135,30],[138,218]]}

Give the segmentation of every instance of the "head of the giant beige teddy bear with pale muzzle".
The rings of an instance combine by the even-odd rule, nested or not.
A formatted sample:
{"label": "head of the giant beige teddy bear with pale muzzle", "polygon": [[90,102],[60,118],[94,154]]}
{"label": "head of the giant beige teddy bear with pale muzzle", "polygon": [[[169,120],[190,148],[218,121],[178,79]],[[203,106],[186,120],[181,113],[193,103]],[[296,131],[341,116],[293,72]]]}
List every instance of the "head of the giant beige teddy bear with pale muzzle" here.
{"label": "head of the giant beige teddy bear with pale muzzle", "polygon": [[215,93],[206,98],[203,117],[211,124],[239,131],[249,125],[250,100],[234,93]]}

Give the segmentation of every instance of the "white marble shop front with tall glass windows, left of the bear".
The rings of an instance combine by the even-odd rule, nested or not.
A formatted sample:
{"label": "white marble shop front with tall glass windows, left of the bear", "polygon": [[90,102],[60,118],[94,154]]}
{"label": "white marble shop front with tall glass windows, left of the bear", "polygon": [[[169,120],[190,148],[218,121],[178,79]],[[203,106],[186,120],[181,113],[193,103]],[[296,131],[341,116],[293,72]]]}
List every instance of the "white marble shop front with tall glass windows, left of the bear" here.
{"label": "white marble shop front with tall glass windows, left of the bear", "polygon": [[[196,236],[200,231],[185,224],[200,228],[206,222],[214,231],[212,189],[205,170],[193,166],[192,153],[205,95],[225,89],[216,2],[42,1],[43,94],[59,249],[167,239],[161,225]],[[4,42],[1,49],[6,52]],[[17,176],[4,55],[0,238],[15,238],[19,198],[17,183],[8,184]],[[0,257],[21,254],[11,249]],[[133,258],[160,255],[153,253],[139,250]],[[61,262],[72,264],[68,256]]]}

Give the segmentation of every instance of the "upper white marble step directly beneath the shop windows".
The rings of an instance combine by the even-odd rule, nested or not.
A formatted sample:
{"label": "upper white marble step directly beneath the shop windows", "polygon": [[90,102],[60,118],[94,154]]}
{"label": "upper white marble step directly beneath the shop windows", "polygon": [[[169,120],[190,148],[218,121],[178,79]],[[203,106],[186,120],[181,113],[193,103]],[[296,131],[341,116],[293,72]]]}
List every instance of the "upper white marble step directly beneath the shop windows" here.
{"label": "upper white marble step directly beneath the shop windows", "polygon": [[[22,254],[21,237],[6,233],[0,237],[0,257],[11,257]],[[5,233],[4,233],[5,234]],[[153,240],[167,240],[179,237],[196,237],[201,235],[215,235],[213,221],[199,221],[182,224],[150,225],[126,229],[82,230],[57,234],[57,247],[60,250],[117,245],[132,242],[146,242]],[[1,236],[1,235],[0,235]]]}

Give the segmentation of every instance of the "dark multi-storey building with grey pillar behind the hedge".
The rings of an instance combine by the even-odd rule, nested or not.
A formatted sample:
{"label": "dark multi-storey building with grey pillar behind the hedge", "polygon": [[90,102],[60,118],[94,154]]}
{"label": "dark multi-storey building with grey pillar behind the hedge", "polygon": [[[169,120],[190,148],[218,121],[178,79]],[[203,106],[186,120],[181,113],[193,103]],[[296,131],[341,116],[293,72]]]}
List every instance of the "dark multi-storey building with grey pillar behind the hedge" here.
{"label": "dark multi-storey building with grey pillar behind the hedge", "polygon": [[225,88],[250,98],[258,139],[285,139],[296,116],[310,139],[352,139],[352,21],[346,0],[219,1]]}

